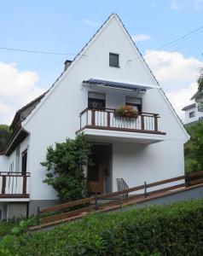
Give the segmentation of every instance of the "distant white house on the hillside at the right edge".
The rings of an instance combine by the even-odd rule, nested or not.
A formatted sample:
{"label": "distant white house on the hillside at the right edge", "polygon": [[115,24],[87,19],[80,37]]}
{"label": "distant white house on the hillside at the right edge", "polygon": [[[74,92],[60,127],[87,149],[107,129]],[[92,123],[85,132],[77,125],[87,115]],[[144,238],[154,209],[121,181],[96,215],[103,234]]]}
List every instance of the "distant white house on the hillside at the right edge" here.
{"label": "distant white house on the hillside at the right edge", "polygon": [[182,109],[185,112],[185,125],[203,120],[203,93],[198,90],[191,100],[194,103]]}

